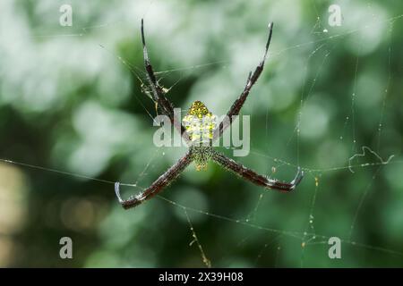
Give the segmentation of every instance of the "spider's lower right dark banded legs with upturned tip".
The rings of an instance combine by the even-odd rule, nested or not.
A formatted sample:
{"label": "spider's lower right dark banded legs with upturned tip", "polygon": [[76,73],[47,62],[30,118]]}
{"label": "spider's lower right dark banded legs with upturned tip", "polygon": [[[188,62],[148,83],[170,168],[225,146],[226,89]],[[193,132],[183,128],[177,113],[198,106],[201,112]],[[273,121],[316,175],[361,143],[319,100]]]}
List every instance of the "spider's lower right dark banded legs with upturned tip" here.
{"label": "spider's lower right dark banded legs with upturned tip", "polygon": [[304,172],[298,167],[298,171],[296,172],[296,177],[291,182],[283,182],[278,180],[272,180],[267,178],[266,176],[262,176],[253,170],[246,168],[242,164],[236,163],[236,161],[228,158],[227,156],[214,151],[212,155],[212,160],[226,168],[227,170],[236,173],[236,175],[244,178],[247,181],[253,182],[253,184],[261,186],[266,189],[277,189],[282,192],[288,192],[293,189],[296,189],[296,186],[304,177]]}

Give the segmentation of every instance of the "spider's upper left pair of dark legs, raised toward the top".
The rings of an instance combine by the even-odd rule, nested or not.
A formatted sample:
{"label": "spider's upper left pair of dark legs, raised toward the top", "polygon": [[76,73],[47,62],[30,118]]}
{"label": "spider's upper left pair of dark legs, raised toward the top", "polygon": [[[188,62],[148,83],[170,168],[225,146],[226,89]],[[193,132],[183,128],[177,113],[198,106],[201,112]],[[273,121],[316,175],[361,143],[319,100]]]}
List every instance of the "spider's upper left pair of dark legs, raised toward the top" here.
{"label": "spider's upper left pair of dark legs, raised toward the top", "polygon": [[159,86],[157,77],[155,76],[154,70],[150,63],[149,53],[147,51],[147,46],[144,37],[144,21],[141,19],[141,43],[142,43],[142,55],[144,58],[144,67],[147,71],[147,80],[149,81],[151,88],[152,99],[157,103],[159,110],[162,114],[169,117],[170,122],[175,126],[176,130],[181,134],[182,138],[189,142],[189,136],[187,135],[184,126],[182,125],[180,119],[175,120],[174,105],[172,105],[167,97],[165,96],[164,90]]}

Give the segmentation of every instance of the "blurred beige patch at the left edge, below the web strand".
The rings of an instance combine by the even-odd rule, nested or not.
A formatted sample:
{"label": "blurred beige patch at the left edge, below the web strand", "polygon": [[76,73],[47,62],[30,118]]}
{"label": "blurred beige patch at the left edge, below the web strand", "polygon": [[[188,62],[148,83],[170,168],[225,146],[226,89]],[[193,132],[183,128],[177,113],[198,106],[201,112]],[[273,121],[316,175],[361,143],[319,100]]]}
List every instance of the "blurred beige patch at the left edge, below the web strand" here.
{"label": "blurred beige patch at the left edge, below the web strand", "polygon": [[28,211],[26,181],[19,168],[0,163],[0,267],[13,259],[13,235],[24,227]]}

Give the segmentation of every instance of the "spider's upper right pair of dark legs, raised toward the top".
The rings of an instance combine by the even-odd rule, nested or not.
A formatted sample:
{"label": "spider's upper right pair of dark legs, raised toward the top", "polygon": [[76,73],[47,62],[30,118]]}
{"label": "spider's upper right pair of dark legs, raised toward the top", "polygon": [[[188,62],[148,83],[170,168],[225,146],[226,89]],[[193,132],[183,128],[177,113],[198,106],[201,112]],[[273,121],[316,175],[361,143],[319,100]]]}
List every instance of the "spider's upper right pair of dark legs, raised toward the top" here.
{"label": "spider's upper right pair of dark legs, raised toward the top", "polygon": [[239,114],[239,111],[241,110],[242,106],[244,105],[244,102],[246,98],[248,97],[253,85],[256,83],[256,81],[259,79],[263,68],[264,68],[264,62],[266,61],[267,58],[267,53],[269,51],[269,46],[270,46],[270,40],[271,40],[271,34],[273,33],[273,23],[270,22],[269,24],[269,36],[267,38],[266,42],[266,48],[264,50],[263,58],[261,63],[255,68],[255,70],[250,71],[248,75],[248,79],[246,80],[246,85],[244,87],[244,91],[241,93],[241,95],[236,99],[234,104],[231,106],[229,111],[227,112],[227,120],[224,120],[219,123],[219,127],[214,130],[214,137],[213,140],[219,139],[222,135],[222,133],[231,125],[231,123],[235,120],[236,115]]}

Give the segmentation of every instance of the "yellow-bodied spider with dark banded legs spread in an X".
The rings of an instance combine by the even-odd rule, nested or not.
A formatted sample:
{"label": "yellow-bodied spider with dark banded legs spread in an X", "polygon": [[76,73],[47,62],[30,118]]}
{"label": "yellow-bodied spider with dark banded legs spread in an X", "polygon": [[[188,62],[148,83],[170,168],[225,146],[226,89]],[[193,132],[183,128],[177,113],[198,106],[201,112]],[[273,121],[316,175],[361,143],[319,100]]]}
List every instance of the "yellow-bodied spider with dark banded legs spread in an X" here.
{"label": "yellow-bodied spider with dark banded legs spread in an X", "polygon": [[[236,163],[231,158],[219,153],[217,150],[214,149],[212,146],[212,142],[219,139],[224,130],[226,130],[231,123],[235,120],[236,116],[239,114],[242,106],[244,105],[244,101],[249,95],[249,92],[255,82],[259,79],[264,67],[264,62],[267,58],[269,46],[270,46],[270,39],[273,30],[273,23],[270,22],[269,24],[269,37],[266,42],[266,48],[264,50],[264,54],[262,57],[262,61],[259,65],[255,68],[252,72],[249,72],[249,76],[246,81],[246,85],[244,87],[244,91],[241,95],[236,99],[234,104],[231,106],[229,111],[227,112],[227,121],[222,121],[219,123],[219,126],[216,127],[214,123],[210,123],[207,125],[207,129],[209,132],[202,133],[200,135],[201,130],[194,130],[192,128],[192,121],[194,120],[201,120],[201,119],[211,119],[214,115],[210,113],[207,107],[202,104],[200,101],[195,101],[189,112],[184,116],[184,120],[182,123],[180,121],[174,120],[174,106],[168,101],[167,97],[165,96],[164,89],[159,86],[159,82],[155,76],[153,71],[152,65],[150,63],[150,58],[147,52],[147,47],[144,38],[144,23],[141,19],[141,43],[143,49],[143,58],[144,58],[144,66],[145,71],[147,72],[147,80],[150,84],[150,97],[155,101],[157,104],[159,111],[162,114],[167,115],[170,122],[174,124],[176,130],[181,134],[182,138],[186,142],[188,151],[186,154],[180,158],[176,164],[173,164],[167,172],[164,172],[159,178],[154,181],[149,188],[144,189],[141,191],[140,194],[136,196],[132,196],[128,199],[123,199],[120,195],[119,186],[120,183],[115,183],[115,192],[116,196],[119,200],[119,203],[124,207],[124,209],[131,208],[133,206],[138,206],[143,203],[145,200],[153,198],[161,190],[167,187],[172,181],[174,181],[184,169],[191,164],[193,161],[196,165],[196,170],[204,170],[207,167],[207,163],[212,160],[215,163],[219,164],[221,167],[227,169],[230,172],[234,172],[237,176],[244,179],[245,181],[251,181],[253,184],[261,186],[265,189],[277,189],[282,192],[289,192],[296,188],[298,183],[302,180],[304,176],[304,172],[301,170],[300,167],[297,168],[296,177],[291,182],[282,182],[278,180],[270,179],[264,175],[258,174],[253,170],[245,167],[242,164]],[[179,123],[178,123],[179,122]],[[200,125],[199,125],[200,126]],[[204,126],[204,125],[203,125]],[[204,128],[206,128],[204,126]],[[201,146],[201,142],[208,144],[203,144]]]}

